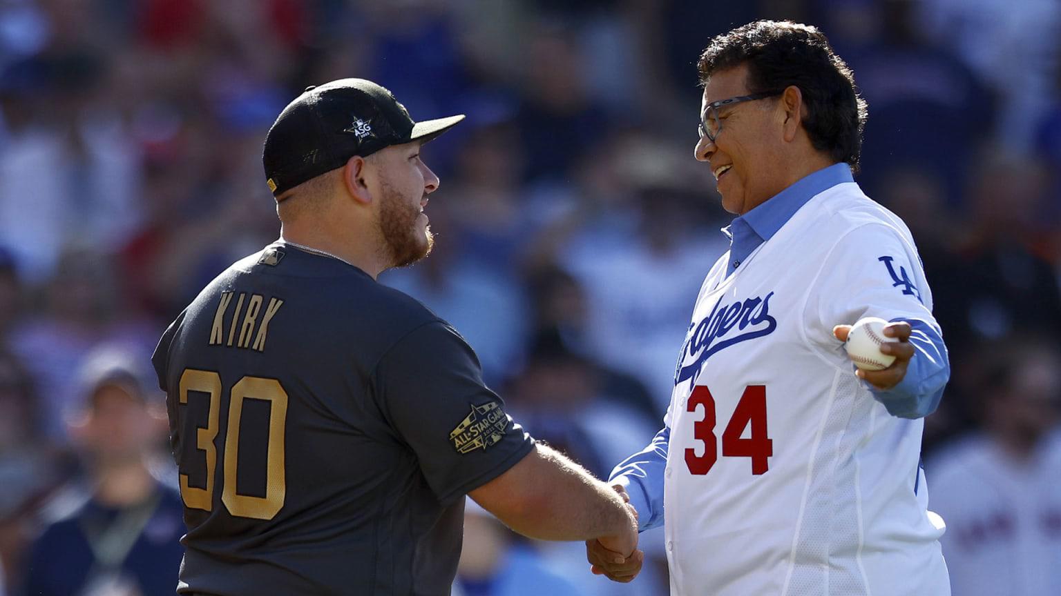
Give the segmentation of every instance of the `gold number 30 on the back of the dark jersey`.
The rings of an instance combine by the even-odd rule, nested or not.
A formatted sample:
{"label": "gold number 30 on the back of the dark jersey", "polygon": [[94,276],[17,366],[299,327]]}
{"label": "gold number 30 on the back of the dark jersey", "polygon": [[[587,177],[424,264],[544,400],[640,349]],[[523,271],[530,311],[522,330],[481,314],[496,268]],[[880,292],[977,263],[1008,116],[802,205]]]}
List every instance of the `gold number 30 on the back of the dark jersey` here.
{"label": "gold number 30 on the back of the dark jersey", "polygon": [[[218,468],[218,450],[214,439],[221,414],[221,375],[210,370],[185,369],[180,375],[180,403],[188,403],[188,391],[209,396],[210,413],[207,427],[196,428],[195,446],[206,453],[206,488],[188,486],[188,474],[180,474],[180,496],[190,509],[210,511],[213,503],[213,474]],[[228,432],[225,434],[224,487],[221,501],[232,515],[272,520],[283,507],[288,485],[284,476],[283,435],[288,421],[288,392],[276,379],[244,376],[232,386],[228,405]],[[240,457],[240,420],[243,402],[247,399],[269,402],[268,456],[265,476],[265,496],[251,496],[236,492],[236,469]]]}

